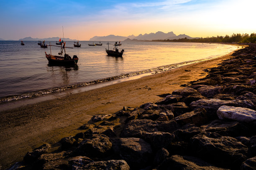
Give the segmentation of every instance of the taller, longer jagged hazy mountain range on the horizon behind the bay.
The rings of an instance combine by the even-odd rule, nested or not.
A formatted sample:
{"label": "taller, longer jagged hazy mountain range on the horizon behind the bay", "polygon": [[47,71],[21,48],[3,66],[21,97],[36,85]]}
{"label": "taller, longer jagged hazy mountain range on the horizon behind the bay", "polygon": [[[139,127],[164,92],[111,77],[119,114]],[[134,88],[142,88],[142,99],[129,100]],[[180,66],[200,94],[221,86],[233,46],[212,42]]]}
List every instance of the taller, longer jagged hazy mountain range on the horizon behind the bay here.
{"label": "taller, longer jagged hazy mountain range on the horizon behind the bay", "polygon": [[[192,37],[187,36],[185,34],[180,34],[179,36],[176,36],[173,32],[169,33],[163,33],[161,31],[158,31],[156,33],[150,33],[150,34],[140,34],[138,36],[94,36],[90,38],[90,41],[151,41],[151,40],[174,40],[174,39],[180,39],[180,38],[188,38],[192,39]],[[198,37],[197,37],[198,38]]]}

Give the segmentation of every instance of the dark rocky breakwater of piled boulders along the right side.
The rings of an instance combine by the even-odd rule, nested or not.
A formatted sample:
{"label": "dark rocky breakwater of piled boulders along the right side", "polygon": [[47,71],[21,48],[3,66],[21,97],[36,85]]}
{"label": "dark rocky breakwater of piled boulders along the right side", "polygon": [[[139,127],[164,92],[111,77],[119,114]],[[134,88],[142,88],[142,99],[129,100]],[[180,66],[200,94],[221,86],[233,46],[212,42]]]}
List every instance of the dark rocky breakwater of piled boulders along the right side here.
{"label": "dark rocky breakwater of piled boulders along the right side", "polygon": [[256,169],[255,56],[243,48],[161,101],[94,116],[10,169]]}

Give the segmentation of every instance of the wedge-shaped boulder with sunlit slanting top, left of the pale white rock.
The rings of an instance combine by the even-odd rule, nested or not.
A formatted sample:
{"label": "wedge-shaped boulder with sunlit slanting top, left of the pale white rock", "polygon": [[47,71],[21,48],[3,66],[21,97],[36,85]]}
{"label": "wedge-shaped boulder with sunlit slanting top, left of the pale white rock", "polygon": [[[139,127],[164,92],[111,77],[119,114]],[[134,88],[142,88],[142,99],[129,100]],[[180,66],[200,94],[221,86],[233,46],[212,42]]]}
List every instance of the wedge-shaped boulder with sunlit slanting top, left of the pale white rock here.
{"label": "wedge-shaped boulder with sunlit slanting top, left of the pale white rock", "polygon": [[195,124],[196,126],[200,126],[201,124],[205,124],[209,121],[206,110],[204,108],[196,109],[192,112],[187,112],[178,117],[175,117],[174,120],[180,124],[181,126],[185,124]]}

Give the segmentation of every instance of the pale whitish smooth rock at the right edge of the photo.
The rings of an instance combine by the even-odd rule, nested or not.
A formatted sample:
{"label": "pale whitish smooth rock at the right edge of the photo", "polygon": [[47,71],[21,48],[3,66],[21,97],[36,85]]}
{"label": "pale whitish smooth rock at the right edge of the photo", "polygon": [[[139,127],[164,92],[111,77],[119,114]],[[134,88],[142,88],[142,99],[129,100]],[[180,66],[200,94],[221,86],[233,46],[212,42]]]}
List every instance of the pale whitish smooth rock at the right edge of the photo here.
{"label": "pale whitish smooth rock at the right edge of the photo", "polygon": [[219,119],[231,119],[238,122],[252,122],[256,120],[256,111],[248,108],[221,106],[217,115]]}

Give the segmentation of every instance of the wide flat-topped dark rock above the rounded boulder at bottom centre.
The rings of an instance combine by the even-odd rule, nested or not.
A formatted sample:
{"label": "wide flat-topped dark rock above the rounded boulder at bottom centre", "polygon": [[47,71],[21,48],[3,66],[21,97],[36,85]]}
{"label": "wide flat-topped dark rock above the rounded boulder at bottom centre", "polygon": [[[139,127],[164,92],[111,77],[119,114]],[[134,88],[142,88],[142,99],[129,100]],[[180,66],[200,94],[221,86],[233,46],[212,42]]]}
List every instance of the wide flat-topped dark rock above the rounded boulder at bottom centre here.
{"label": "wide flat-topped dark rock above the rounded boulder at bottom centre", "polygon": [[148,119],[137,119],[131,120],[127,124],[120,134],[120,137],[144,137],[147,132],[169,132],[172,133],[174,130],[179,128],[179,124],[175,121],[153,121]]}

